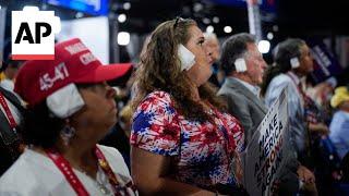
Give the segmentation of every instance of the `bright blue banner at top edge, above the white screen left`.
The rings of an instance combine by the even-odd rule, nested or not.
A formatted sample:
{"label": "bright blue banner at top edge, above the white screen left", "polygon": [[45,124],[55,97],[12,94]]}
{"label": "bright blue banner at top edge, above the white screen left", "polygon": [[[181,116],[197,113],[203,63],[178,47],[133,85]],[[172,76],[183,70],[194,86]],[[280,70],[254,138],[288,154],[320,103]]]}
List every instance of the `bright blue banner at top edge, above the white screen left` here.
{"label": "bright blue banner at top edge, above the white screen left", "polygon": [[108,0],[44,0],[58,7],[64,7],[92,15],[107,15]]}

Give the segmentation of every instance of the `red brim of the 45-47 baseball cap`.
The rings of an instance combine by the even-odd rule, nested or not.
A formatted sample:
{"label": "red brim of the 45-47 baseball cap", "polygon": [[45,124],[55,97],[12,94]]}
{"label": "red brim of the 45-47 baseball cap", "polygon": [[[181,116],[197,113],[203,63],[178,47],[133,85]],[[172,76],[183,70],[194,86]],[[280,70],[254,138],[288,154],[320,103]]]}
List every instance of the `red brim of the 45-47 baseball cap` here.
{"label": "red brim of the 45-47 baseball cap", "polygon": [[117,79],[122,77],[132,69],[131,63],[117,63],[109,65],[100,65],[94,70],[94,74],[87,74],[79,79],[74,81],[75,83],[99,83],[105,81]]}

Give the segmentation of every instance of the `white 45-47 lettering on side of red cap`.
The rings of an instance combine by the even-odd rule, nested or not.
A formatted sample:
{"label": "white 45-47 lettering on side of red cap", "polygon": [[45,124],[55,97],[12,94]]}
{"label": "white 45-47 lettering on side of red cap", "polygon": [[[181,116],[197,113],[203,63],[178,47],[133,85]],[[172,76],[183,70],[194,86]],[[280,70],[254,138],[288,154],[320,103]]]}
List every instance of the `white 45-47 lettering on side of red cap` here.
{"label": "white 45-47 lettering on side of red cap", "polygon": [[40,84],[40,90],[48,90],[50,89],[55,83],[59,79],[63,81],[69,76],[68,69],[64,63],[60,63],[57,66],[55,66],[55,76],[50,77],[49,73],[45,73],[40,78],[39,78],[39,84]]}

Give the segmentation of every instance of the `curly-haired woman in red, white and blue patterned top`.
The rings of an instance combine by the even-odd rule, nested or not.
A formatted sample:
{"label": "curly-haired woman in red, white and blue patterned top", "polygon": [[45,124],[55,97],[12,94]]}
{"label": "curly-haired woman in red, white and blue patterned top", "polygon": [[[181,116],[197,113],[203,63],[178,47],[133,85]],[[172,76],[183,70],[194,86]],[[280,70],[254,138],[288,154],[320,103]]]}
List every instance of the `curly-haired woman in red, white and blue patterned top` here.
{"label": "curly-haired woman in red, white and blue patterned top", "polygon": [[136,72],[131,171],[141,194],[244,194],[240,123],[206,83],[209,51],[193,20],[160,24]]}

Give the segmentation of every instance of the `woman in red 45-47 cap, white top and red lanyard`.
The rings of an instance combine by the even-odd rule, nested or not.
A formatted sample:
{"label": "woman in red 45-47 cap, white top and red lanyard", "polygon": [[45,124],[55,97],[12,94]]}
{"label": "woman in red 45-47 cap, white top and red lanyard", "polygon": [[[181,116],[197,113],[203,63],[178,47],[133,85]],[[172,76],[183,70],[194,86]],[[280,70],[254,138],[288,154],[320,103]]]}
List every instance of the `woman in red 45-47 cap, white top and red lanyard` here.
{"label": "woman in red 45-47 cap, white top and red lanyard", "polygon": [[119,151],[97,145],[117,121],[106,82],[130,69],[103,65],[79,39],[56,45],[52,61],[27,61],[14,90],[28,103],[28,148],[0,179],[0,195],[137,195]]}

